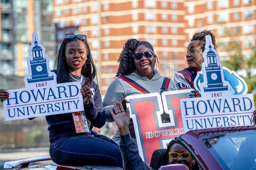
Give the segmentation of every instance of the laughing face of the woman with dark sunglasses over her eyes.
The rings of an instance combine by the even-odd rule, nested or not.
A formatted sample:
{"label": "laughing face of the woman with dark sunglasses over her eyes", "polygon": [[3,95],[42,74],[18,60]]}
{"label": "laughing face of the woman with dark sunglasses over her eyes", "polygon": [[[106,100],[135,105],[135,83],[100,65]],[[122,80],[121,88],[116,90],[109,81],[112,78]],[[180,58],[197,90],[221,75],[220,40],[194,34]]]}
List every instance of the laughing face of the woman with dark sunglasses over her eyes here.
{"label": "laughing face of the woman with dark sunglasses over her eyes", "polygon": [[[143,53],[152,51],[152,49],[146,47],[145,45],[140,45],[135,49],[135,53]],[[153,55],[151,58],[146,58],[144,55],[142,56],[141,60],[135,60],[134,64],[137,70],[137,73],[146,76],[147,78],[151,79],[154,75],[154,67],[155,67],[155,56]]]}

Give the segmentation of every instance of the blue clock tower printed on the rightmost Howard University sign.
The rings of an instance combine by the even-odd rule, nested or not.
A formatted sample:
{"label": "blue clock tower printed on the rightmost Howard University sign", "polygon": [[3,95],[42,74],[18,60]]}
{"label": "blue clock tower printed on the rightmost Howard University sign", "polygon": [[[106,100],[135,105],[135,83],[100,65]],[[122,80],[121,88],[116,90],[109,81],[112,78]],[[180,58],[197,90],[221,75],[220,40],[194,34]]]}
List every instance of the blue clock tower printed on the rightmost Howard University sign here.
{"label": "blue clock tower printed on the rightmost Howard University sign", "polygon": [[206,54],[207,65],[205,67],[207,87],[204,91],[223,91],[228,90],[228,86],[223,86],[221,78],[221,67],[217,64],[217,55],[212,51],[209,45],[209,52]]}

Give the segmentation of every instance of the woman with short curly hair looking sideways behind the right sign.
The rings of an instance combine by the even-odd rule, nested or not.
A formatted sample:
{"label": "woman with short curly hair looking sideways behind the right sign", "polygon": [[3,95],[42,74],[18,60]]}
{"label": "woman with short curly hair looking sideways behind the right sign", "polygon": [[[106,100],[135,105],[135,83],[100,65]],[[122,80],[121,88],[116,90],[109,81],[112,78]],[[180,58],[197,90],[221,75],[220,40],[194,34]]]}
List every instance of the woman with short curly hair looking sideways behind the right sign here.
{"label": "woman with short curly hair looking sideways behind the right sign", "polygon": [[[177,83],[176,85],[179,90],[194,88],[194,79],[196,78],[197,72],[201,71],[202,63],[204,62],[203,53],[205,50],[206,35],[210,35],[212,37],[212,44],[214,45],[214,48],[218,48],[213,31],[204,30],[193,35],[187,48],[186,61],[188,63],[188,67],[174,73],[174,81]],[[197,96],[198,94],[199,93],[197,91],[196,94],[194,93],[191,96]]]}

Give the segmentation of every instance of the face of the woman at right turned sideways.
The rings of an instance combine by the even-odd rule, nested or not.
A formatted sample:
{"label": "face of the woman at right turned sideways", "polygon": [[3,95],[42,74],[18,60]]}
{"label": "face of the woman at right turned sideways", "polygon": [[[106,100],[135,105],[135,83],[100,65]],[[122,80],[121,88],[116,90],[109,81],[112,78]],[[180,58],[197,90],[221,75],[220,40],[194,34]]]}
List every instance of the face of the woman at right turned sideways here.
{"label": "face of the woman at right turned sideways", "polygon": [[197,46],[199,40],[191,41],[188,45],[186,60],[190,69],[201,70],[204,61],[203,51],[201,47]]}

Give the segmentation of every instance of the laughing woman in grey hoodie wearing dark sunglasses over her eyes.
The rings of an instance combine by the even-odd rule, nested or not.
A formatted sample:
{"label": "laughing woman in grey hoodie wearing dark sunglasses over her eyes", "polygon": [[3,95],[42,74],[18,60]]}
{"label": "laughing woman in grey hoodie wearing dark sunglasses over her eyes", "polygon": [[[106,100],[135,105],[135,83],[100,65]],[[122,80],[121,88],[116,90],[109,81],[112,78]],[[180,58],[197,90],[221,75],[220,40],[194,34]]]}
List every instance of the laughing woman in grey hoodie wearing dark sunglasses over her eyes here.
{"label": "laughing woman in grey hoodie wearing dark sunglasses over her eyes", "polygon": [[[110,83],[103,99],[107,122],[114,121],[109,109],[113,109],[115,101],[123,101],[129,95],[177,90],[174,81],[163,77],[155,69],[156,62],[158,62],[157,56],[154,48],[147,41],[127,40],[118,62],[116,79]],[[132,121],[130,131],[132,137],[135,138]],[[113,140],[119,143],[118,130],[115,132]]]}

